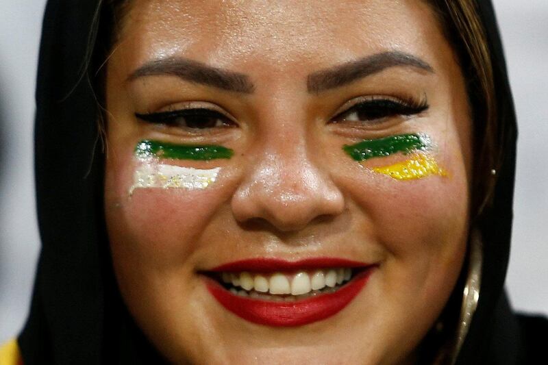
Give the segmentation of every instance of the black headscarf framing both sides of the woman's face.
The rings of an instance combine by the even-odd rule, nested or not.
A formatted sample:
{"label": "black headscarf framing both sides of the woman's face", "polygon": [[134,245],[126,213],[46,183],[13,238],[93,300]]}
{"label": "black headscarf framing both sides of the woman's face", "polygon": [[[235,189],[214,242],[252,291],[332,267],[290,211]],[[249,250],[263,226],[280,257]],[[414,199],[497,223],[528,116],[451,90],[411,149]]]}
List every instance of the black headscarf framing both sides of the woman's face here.
{"label": "black headscarf framing both sides of the woman's face", "polygon": [[[125,309],[110,262],[97,123],[101,95],[94,93],[92,82],[93,70],[105,60],[110,45],[113,14],[105,7],[99,12],[100,3],[50,0],[45,12],[35,129],[42,251],[30,315],[18,337],[25,365],[163,362]],[[527,354],[532,355],[527,346],[541,336],[540,325],[513,314],[503,290],[510,253],[516,121],[493,6],[485,0],[477,5],[493,59],[497,115],[503,126],[499,133],[506,151],[497,171],[493,206],[479,222],[484,242],[482,285],[458,364],[525,364]],[[548,329],[543,331],[546,336]]]}

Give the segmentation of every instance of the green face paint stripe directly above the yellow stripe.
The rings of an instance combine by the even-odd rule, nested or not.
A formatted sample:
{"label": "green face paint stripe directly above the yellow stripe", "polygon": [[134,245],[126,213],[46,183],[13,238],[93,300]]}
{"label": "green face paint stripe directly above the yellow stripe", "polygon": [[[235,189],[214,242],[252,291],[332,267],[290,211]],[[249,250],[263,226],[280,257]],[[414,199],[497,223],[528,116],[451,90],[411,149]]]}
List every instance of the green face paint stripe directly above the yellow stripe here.
{"label": "green face paint stripe directly above the yellow stripe", "polygon": [[431,142],[425,134],[399,134],[376,140],[362,140],[356,144],[343,147],[346,153],[356,161],[383,157],[401,152],[404,155],[412,151],[425,151],[431,147]]}

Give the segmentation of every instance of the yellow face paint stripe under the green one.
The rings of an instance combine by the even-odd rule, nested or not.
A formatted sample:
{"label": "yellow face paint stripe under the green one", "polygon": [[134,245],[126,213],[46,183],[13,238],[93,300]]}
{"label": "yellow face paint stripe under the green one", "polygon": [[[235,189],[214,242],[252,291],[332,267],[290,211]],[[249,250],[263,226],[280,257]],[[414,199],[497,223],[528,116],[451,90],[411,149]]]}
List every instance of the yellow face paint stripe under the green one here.
{"label": "yellow face paint stripe under the green one", "polygon": [[414,180],[422,179],[429,175],[447,176],[438,162],[434,158],[425,153],[414,153],[407,160],[397,162],[396,164],[374,167],[375,173],[388,175],[397,180]]}

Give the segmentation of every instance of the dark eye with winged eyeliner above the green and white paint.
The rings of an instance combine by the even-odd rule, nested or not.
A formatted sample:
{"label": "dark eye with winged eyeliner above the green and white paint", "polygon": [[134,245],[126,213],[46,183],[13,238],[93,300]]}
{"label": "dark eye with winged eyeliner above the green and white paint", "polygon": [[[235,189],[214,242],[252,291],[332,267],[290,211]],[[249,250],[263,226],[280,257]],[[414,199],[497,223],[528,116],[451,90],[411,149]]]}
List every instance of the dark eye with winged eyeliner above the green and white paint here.
{"label": "dark eye with winged eyeliner above the green and white paint", "polygon": [[207,108],[182,109],[149,114],[136,113],[135,116],[145,122],[186,129],[208,129],[234,125],[223,114]]}

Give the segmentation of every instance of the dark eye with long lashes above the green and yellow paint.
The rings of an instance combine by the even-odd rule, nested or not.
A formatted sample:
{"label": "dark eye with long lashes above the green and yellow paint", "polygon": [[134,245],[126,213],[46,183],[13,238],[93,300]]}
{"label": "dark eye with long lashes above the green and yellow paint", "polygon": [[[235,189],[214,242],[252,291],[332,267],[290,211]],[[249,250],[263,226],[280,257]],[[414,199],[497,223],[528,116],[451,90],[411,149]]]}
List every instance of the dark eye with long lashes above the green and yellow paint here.
{"label": "dark eye with long lashes above the green and yellow paint", "polygon": [[[421,114],[429,108],[425,98],[419,100],[407,98],[403,100],[390,99],[387,97],[370,97],[360,101],[344,112],[337,114],[332,118],[332,123],[363,123],[370,124],[382,123],[391,116],[412,116]],[[349,116],[356,113],[357,121],[351,121]],[[360,114],[362,114],[360,116]],[[364,115],[365,114],[365,115]]]}

